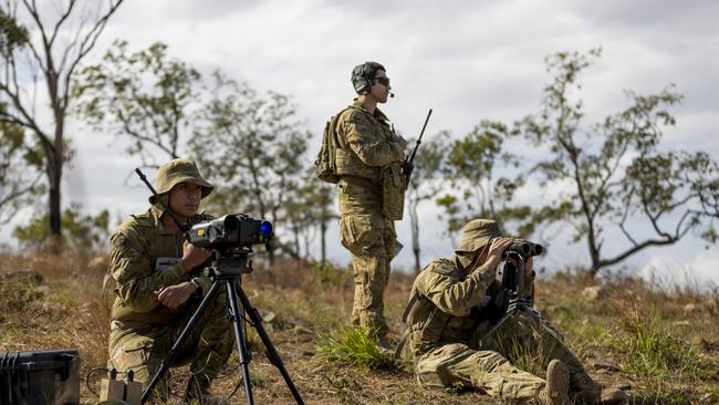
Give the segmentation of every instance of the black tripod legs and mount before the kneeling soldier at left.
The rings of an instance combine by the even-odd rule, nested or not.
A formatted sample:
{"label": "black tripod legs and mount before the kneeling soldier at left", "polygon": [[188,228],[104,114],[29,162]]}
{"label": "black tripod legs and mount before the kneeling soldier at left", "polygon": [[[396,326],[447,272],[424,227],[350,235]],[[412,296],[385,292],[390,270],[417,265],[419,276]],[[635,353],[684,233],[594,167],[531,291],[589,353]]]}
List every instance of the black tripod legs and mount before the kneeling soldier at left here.
{"label": "black tripod legs and mount before the kneeling soldier at left", "polygon": [[[242,312],[249,316],[250,325],[254,326],[254,330],[260,336],[260,340],[262,340],[262,344],[264,344],[264,347],[267,350],[265,353],[270,360],[270,363],[278,367],[280,374],[282,374],[282,378],[284,378],[284,382],[290,388],[290,392],[292,392],[294,401],[296,401],[296,403],[300,405],[304,404],[302,397],[300,396],[300,392],[298,392],[298,388],[294,386],[292,380],[290,378],[290,374],[288,374],[286,368],[284,368],[282,359],[280,359],[280,355],[274,349],[274,345],[272,345],[272,342],[270,341],[270,336],[268,336],[264,326],[262,325],[262,316],[260,316],[260,312],[252,307],[250,300],[247,298],[244,291],[242,290],[240,282],[241,274],[252,271],[252,264],[249,260],[251,253],[252,250],[249,248],[230,249],[228,251],[220,251],[218,249],[212,250],[211,266],[205,269],[205,273],[208,277],[212,278],[212,285],[202,299],[200,305],[190,316],[190,320],[185,325],[185,329],[183,329],[183,332],[180,333],[179,338],[177,338],[175,344],[173,344],[173,347],[170,349],[169,353],[167,353],[167,356],[165,356],[165,360],[163,360],[159,370],[157,370],[157,373],[149,382],[149,385],[147,385],[147,388],[143,393],[143,403],[147,401],[155,385],[163,377],[170,364],[173,364],[175,357],[177,357],[183,342],[189,335],[189,331],[191,331],[200,320],[202,312],[210,304],[215,295],[217,295],[220,288],[225,285],[225,291],[227,293],[228,315],[230,318],[230,322],[232,322],[235,340],[240,356],[240,366],[242,368],[242,384],[244,385],[247,403],[250,405],[254,404],[254,398],[252,397],[252,384],[250,382],[249,370],[251,355],[247,349],[246,330],[242,322],[240,322],[240,320],[243,318]],[[237,301],[238,298],[240,299],[239,304]]]}

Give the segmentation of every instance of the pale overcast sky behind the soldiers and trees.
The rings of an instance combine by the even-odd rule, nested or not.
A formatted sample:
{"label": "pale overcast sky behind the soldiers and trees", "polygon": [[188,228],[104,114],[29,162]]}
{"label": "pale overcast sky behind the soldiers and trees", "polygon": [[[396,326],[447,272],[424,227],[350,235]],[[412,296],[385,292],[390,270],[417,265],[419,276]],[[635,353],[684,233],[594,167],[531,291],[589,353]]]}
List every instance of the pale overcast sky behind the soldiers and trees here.
{"label": "pale overcast sky behind the soldiers and trees", "polygon": [[[509,123],[535,112],[549,81],[548,54],[602,46],[602,59],[583,76],[588,122],[624,108],[623,90],[652,93],[674,83],[685,100],[674,110],[677,126],[666,132],[666,146],[704,149],[717,158],[717,21],[719,2],[709,0],[126,0],[93,58],[115,39],[128,41],[132,51],[159,41],[169,45],[171,56],[204,73],[219,68],[258,90],[292,95],[317,136],[310,150],[314,156],[324,122],[354,96],[352,68],[364,61],[387,68],[396,96],[383,111],[400,132],[416,136],[433,107],[426,136],[440,129],[460,136],[483,118]],[[65,177],[65,202],[82,200],[91,210],[110,208],[117,216],[145,209],[146,191],[127,179],[138,162],[121,155],[114,137],[76,122],[67,134],[77,154]],[[451,253],[437,210],[433,204],[421,209],[425,262]],[[408,268],[405,217],[397,228],[407,248],[395,264]],[[330,232],[331,257],[348,262],[335,241],[336,227]],[[717,251],[688,239],[628,263],[644,272],[656,269],[667,279],[691,271],[719,282]],[[555,268],[587,263],[585,257],[584,245],[555,242],[542,260]]]}

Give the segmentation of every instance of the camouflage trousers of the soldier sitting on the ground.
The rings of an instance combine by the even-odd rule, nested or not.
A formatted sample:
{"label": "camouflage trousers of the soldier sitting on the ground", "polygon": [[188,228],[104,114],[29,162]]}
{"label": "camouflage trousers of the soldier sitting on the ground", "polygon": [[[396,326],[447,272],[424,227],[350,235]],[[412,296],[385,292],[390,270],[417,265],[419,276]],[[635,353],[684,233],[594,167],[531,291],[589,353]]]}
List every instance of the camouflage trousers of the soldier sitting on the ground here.
{"label": "camouflage trousers of the soldier sitting on the ground", "polygon": [[584,372],[582,363],[543,322],[520,313],[483,339],[482,345],[473,339],[469,345],[449,343],[431,349],[415,361],[417,380],[424,386],[471,387],[508,402],[536,398],[546,385],[543,376],[550,361],[562,361],[572,374]]}

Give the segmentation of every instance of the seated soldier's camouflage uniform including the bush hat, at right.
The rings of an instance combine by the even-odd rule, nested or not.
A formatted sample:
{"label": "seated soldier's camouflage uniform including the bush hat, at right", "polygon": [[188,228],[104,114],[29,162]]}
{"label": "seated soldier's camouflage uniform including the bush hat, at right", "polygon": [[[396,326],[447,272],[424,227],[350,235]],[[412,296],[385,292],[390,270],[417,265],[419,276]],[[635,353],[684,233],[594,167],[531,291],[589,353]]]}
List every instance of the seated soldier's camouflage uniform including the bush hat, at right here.
{"label": "seated soldier's camouflage uniform including the bush hat, at right", "polygon": [[[492,333],[489,342],[479,341],[490,329],[479,305],[501,285],[493,268],[482,266],[468,273],[460,255],[476,252],[497,236],[500,233],[494,221],[470,221],[454,260],[435,260],[417,276],[405,313],[408,342],[421,385],[461,384],[502,401],[528,401],[536,398],[546,383],[512,365],[501,354],[513,342],[541,354],[544,367],[556,359],[572,374],[584,373],[584,368],[556,336],[535,324],[531,316],[517,316]],[[533,280],[533,274],[524,280],[524,292],[530,297]]]}

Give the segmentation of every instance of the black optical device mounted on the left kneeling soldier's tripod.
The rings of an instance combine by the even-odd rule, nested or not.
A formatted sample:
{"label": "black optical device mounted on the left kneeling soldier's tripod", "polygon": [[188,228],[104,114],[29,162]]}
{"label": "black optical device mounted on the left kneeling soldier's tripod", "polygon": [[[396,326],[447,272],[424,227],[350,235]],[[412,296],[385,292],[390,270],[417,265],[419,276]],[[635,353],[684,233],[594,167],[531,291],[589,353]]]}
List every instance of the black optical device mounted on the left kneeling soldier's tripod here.
{"label": "black optical device mounted on the left kneeling soldier's tripod", "polygon": [[199,222],[189,230],[190,243],[204,249],[249,247],[267,243],[271,239],[271,222],[244,214],[231,214]]}

